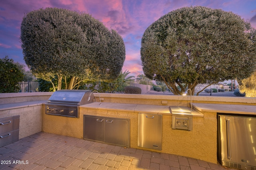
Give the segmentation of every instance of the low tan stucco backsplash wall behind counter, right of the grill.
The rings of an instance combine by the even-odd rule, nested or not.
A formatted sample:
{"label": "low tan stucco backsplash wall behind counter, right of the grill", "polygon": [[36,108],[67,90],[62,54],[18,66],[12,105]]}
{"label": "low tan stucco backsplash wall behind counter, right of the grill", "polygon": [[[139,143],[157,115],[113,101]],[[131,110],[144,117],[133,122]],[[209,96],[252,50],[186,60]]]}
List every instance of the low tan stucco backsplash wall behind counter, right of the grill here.
{"label": "low tan stucco backsplash wall behind counter, right of the grill", "polygon": [[[94,93],[95,101],[99,102],[99,94]],[[138,95],[100,93],[102,102],[132,103],[146,105],[188,106],[190,96],[180,95]],[[162,104],[167,101],[167,104]],[[192,96],[192,103],[216,103],[232,105],[256,105],[256,97],[218,97],[218,96]]]}

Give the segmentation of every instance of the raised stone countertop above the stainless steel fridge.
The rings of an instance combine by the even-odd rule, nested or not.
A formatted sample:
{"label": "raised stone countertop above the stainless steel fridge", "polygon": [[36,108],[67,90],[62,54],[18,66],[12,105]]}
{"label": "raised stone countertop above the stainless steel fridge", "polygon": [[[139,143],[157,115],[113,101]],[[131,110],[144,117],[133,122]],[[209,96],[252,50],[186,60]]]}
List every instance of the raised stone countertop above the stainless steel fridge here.
{"label": "raised stone countertop above the stainless steel fridge", "polygon": [[192,105],[200,112],[256,115],[256,105],[225,105],[210,103],[192,103]]}

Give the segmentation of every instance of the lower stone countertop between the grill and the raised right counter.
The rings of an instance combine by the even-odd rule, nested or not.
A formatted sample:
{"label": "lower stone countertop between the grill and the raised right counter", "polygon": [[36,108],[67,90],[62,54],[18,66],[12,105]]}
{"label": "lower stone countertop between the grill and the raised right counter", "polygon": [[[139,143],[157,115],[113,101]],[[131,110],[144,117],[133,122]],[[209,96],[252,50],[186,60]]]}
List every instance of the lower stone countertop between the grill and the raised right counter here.
{"label": "lower stone countertop between the grill and the raised right counter", "polygon": [[[170,107],[172,106],[159,106],[159,105],[142,105],[142,104],[126,104],[126,103],[107,103],[103,102],[100,105],[99,102],[93,102],[86,105],[80,106],[80,108],[87,109],[102,109],[111,111],[124,111],[124,112],[139,112],[148,114],[158,114],[158,115],[172,115],[170,112]],[[186,108],[186,107],[184,107]],[[198,111],[192,112],[193,117],[204,117],[202,113]]]}

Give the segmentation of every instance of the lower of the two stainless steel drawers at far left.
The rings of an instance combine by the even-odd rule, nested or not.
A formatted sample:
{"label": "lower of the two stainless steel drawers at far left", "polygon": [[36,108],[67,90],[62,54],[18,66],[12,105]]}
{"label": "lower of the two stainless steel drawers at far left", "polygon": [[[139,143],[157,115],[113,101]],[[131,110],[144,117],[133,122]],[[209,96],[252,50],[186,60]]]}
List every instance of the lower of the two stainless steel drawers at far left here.
{"label": "lower of the two stainless steel drawers at far left", "polygon": [[0,134],[0,147],[19,140],[19,129]]}

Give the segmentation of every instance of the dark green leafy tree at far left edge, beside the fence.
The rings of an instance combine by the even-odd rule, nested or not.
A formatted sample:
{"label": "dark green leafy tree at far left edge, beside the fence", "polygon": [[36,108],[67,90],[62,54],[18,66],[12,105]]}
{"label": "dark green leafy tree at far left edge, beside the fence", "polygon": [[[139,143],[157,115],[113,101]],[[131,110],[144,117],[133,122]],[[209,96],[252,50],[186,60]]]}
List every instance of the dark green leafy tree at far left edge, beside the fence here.
{"label": "dark green leafy tree at far left edge, beside the fence", "polygon": [[20,87],[18,82],[22,81],[24,75],[14,64],[13,59],[6,56],[0,59],[0,93],[18,92]]}

